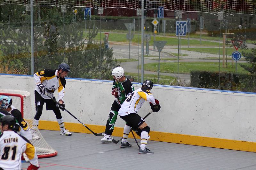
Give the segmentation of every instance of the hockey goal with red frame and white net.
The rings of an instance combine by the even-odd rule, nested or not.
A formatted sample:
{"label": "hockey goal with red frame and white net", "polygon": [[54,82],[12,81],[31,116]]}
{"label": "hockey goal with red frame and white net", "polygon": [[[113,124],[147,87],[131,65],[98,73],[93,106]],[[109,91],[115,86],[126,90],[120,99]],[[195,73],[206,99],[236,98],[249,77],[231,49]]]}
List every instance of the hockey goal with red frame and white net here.
{"label": "hockey goal with red frame and white net", "polygon": [[[12,105],[20,110],[22,117],[28,122],[30,130],[32,131],[34,114],[31,108],[30,93],[21,90],[0,89],[0,95],[10,96],[12,98]],[[38,129],[33,130],[33,133],[36,133],[39,137],[39,139],[32,139],[32,144],[36,147],[38,158],[48,158],[57,155],[57,151],[44,140]]]}

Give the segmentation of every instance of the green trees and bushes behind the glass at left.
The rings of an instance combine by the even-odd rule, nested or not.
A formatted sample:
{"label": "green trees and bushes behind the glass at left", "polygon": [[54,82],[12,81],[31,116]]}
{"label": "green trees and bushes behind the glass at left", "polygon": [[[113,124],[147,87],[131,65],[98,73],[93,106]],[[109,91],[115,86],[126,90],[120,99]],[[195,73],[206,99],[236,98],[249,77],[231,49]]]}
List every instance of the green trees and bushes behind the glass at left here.
{"label": "green trees and bushes behind the glass at left", "polygon": [[[19,9],[19,10],[13,10]],[[18,6],[0,6],[2,31],[0,42],[2,52],[0,60],[12,61],[17,69],[30,67],[30,23],[29,13]],[[11,12],[10,12],[11,11]],[[82,12],[82,10],[78,10]],[[73,22],[73,10],[65,13],[65,26],[61,9],[53,6],[34,7],[34,70],[56,69],[62,63],[68,63],[70,77],[111,79],[111,70],[116,65],[113,49],[104,48],[104,44],[93,41],[98,31],[84,33],[82,18],[77,15]],[[11,21],[11,22],[10,22]],[[92,25],[88,25],[92,28]],[[100,50],[101,49],[101,50]],[[100,55],[101,54],[101,55]],[[13,67],[13,66],[12,66]]]}

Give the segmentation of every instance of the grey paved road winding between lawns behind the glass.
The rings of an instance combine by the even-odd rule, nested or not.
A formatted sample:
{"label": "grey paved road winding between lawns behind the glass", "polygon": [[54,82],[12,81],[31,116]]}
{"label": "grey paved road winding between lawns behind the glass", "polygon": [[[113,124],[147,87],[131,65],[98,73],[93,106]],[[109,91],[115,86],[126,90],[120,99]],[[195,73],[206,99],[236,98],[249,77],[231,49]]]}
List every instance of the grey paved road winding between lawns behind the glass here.
{"label": "grey paved road winding between lawns behind the glass", "polygon": [[[128,59],[129,58],[129,44],[128,43],[110,43],[110,47],[113,47],[113,57],[116,59]],[[140,56],[141,56],[141,46],[138,45],[131,45],[131,59],[139,59],[139,61],[130,61],[130,62],[122,62],[120,63],[120,66],[124,68],[125,72],[129,73],[138,73],[140,70],[138,70],[139,65],[141,65],[141,57],[138,56],[138,52],[140,50]],[[157,60],[152,60],[152,59],[158,59],[158,51],[153,50],[153,46],[149,47],[150,51],[150,57],[145,55],[144,52],[144,64],[147,63],[156,63],[158,62]],[[145,49],[144,49],[145,51]],[[171,53],[178,53],[178,49],[174,49],[174,47],[166,46],[162,50],[161,53],[161,58],[176,58],[176,56],[172,55]],[[199,53],[199,52],[193,52],[193,51],[185,51],[181,50],[181,54],[186,54],[186,56],[180,56],[179,58],[181,59],[180,62],[216,62],[219,63],[219,60],[204,60],[202,58],[206,57],[217,57],[222,59],[222,55],[218,54],[209,54],[209,53]],[[156,56],[156,57],[152,57]],[[177,62],[177,60],[160,60],[160,62]],[[222,60],[220,61],[222,62]],[[232,60],[228,60],[228,62],[232,62]],[[245,61],[239,61],[245,62]],[[147,71],[144,70],[144,74],[154,74],[157,75],[157,72],[154,71]],[[168,75],[172,77],[176,77],[177,79],[181,79],[181,81],[185,81],[186,83],[190,82],[190,74],[175,74],[175,73],[163,73],[160,72],[160,75]]]}

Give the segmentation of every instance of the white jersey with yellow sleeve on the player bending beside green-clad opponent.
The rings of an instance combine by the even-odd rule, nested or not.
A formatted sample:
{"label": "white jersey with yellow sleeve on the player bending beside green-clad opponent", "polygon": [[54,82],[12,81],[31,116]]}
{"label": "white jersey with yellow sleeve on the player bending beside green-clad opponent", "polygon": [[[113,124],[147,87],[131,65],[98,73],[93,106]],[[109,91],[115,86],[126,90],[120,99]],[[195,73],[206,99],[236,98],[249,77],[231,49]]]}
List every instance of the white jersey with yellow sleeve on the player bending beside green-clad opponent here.
{"label": "white jersey with yellow sleeve on the player bending beside green-clad opponent", "polygon": [[118,114],[125,116],[130,113],[137,113],[145,100],[154,105],[156,104],[154,95],[147,88],[142,87],[133,91],[122,104]]}

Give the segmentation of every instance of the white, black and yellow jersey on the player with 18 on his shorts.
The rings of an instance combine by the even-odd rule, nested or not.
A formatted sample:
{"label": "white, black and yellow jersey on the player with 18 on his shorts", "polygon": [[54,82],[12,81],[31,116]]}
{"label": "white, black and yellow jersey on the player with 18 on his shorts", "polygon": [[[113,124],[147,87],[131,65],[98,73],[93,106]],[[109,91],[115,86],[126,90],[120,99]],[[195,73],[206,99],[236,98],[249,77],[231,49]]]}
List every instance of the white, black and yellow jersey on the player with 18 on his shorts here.
{"label": "white, black and yellow jersey on the player with 18 on his shorts", "polygon": [[58,70],[45,69],[34,74],[36,83],[36,91],[44,98],[50,99],[48,96],[41,94],[38,89],[38,84],[42,84],[45,89],[45,93],[50,94],[53,97],[53,93],[58,89],[59,97],[57,101],[63,100],[64,88],[66,85],[65,78],[57,77]]}

